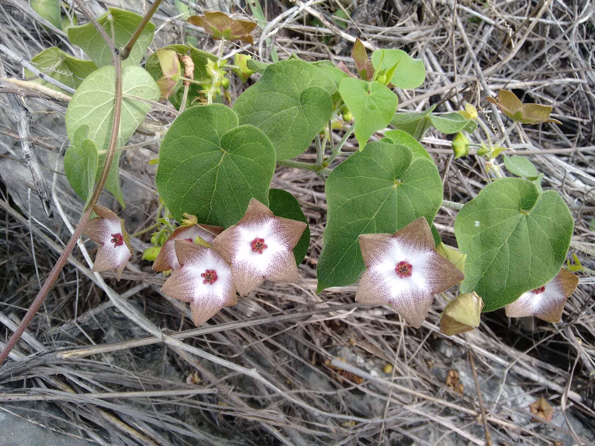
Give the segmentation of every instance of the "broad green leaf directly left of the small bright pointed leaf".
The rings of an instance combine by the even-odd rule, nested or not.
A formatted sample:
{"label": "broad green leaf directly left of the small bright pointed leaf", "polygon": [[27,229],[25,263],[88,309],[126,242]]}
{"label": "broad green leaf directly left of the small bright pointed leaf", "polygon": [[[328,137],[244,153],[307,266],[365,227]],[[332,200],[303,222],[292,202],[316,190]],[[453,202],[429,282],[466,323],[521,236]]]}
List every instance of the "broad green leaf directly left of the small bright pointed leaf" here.
{"label": "broad green leaf directly left of the small bright pointed leaf", "polygon": [[240,125],[252,124],[271,140],[277,159],[303,153],[328,124],[336,87],[324,72],[298,59],[268,65],[233,105]]}

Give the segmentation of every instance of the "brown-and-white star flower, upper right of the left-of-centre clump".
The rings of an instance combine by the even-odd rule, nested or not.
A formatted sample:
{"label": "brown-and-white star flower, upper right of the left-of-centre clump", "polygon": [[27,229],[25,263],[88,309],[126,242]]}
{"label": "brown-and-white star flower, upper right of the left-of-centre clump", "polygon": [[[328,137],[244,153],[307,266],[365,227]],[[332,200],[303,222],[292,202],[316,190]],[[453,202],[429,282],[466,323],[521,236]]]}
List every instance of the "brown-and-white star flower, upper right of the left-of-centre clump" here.
{"label": "brown-and-white star flower, upper right of the left-of-centre clump", "polygon": [[305,229],[304,222],[276,217],[258,200],[250,200],[242,219],[213,242],[230,262],[231,277],[240,296],[246,296],[264,279],[297,282],[292,249]]}

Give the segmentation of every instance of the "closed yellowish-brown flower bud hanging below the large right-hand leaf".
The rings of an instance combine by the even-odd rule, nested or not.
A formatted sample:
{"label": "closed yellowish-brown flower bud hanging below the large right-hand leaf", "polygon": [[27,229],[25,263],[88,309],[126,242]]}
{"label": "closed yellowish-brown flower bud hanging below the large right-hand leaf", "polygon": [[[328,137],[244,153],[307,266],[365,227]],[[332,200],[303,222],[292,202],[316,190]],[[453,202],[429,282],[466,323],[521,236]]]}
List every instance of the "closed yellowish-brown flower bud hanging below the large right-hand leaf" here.
{"label": "closed yellowish-brown flower bud hanging below the large right-hand leaf", "polygon": [[480,326],[483,301],[477,293],[465,293],[451,300],[440,319],[440,332],[447,336],[473,331]]}

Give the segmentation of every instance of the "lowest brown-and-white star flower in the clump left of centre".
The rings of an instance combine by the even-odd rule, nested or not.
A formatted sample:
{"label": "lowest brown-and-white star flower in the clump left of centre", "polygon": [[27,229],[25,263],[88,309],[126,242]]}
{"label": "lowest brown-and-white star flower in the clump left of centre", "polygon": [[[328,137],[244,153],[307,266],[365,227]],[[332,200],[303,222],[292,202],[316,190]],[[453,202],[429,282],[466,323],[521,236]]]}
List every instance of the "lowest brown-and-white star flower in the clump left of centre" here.
{"label": "lowest brown-and-white star flower in the clump left of centre", "polygon": [[171,273],[161,291],[190,302],[196,326],[236,303],[229,263],[217,250],[187,240],[176,240],[174,244],[180,267]]}

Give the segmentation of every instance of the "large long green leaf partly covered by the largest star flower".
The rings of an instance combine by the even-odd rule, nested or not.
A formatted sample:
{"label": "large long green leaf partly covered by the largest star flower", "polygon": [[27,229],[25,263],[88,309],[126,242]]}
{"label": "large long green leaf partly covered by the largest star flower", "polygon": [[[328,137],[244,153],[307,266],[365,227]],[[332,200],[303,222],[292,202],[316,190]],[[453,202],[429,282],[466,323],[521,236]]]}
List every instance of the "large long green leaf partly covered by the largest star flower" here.
{"label": "large long green leaf partly covered by the largest star flower", "polygon": [[398,132],[400,135],[393,133],[391,137],[394,143],[368,143],[328,176],[318,292],[352,284],[359,278],[364,271],[360,234],[392,234],[420,216],[430,224],[434,220],[442,203],[438,169],[430,159],[409,149],[419,146],[412,136]]}

